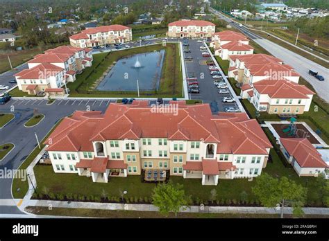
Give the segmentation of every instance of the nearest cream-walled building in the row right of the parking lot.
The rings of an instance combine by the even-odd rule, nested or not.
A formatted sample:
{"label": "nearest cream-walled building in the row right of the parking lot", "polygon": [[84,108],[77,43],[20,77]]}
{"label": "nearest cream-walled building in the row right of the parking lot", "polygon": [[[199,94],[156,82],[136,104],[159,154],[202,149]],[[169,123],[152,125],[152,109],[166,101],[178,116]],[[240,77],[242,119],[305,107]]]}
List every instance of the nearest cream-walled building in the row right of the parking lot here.
{"label": "nearest cream-walled building in the row right of the parking lot", "polygon": [[253,87],[244,84],[240,93],[255,109],[269,114],[303,114],[310,110],[314,94],[304,85],[288,80],[260,80]]}

